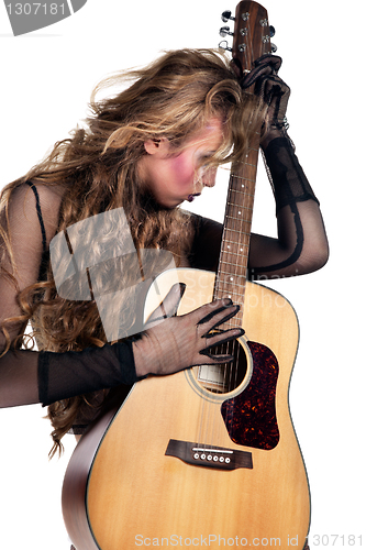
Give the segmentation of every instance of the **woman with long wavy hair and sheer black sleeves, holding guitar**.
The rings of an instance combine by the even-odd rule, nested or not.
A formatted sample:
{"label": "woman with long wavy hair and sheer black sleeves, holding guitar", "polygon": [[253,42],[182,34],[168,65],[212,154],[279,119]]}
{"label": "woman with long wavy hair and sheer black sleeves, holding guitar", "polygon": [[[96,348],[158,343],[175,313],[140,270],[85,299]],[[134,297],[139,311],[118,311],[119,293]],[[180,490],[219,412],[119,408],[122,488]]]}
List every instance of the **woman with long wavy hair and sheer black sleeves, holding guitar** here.
{"label": "woman with long wavy hair and sheer black sleeves, holding guitar", "polygon": [[[133,84],[114,97],[96,101],[93,96],[87,128],[57,143],[43,163],[4,189],[0,405],[48,405],[52,453],[62,449],[67,431],[84,431],[109,388],[148,374],[228,361],[209,348],[243,333],[232,329],[208,338],[211,328],[236,315],[230,299],[174,317],[181,294],[176,285],[155,315],[164,312],[164,322],[110,343],[97,298],[68,299],[58,292],[49,262],[56,234],[123,209],[135,250],[164,249],[178,266],[214,271],[221,226],[177,207],[212,187],[218,165],[243,158],[251,135],[262,131],[278,239],[252,237],[249,274],[291,276],[326,262],[319,204],[285,129],[289,89],[277,76],[279,65],[278,57],[265,56],[240,79],[211,51],[167,53],[130,73]],[[252,85],[256,96],[243,92]],[[129,312],[125,308],[119,315]],[[27,348],[30,320],[40,352],[20,350]]]}

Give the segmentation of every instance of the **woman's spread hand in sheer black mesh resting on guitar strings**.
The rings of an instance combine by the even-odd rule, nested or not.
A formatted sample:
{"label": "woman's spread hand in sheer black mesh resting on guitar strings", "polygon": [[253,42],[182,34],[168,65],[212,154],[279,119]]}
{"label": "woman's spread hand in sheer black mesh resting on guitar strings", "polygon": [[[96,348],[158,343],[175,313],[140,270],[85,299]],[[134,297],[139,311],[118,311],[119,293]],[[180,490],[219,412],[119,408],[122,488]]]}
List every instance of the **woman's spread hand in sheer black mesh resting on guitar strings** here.
{"label": "woman's spread hand in sheer black mesh resting on guitar strings", "polygon": [[[244,334],[243,329],[223,330],[210,334],[224,321],[234,317],[240,307],[224,298],[201,306],[190,314],[175,315],[181,298],[180,285],[175,285],[162,306],[146,323],[142,338],[133,342],[137,376],[165,375],[193,365],[231,362],[231,355],[212,355],[209,349]],[[162,312],[167,317],[164,320]]]}

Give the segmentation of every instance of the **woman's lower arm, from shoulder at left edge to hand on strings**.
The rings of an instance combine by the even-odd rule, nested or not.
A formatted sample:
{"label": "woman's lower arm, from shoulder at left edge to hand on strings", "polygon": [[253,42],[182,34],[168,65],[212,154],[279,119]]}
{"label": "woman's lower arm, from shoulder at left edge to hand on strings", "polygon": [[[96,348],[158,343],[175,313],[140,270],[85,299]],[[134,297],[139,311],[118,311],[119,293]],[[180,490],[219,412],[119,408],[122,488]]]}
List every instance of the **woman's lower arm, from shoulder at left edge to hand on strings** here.
{"label": "woman's lower arm, from shoulder at left edge to hand on strings", "polygon": [[[48,196],[52,190],[40,186],[38,191],[48,244],[56,230],[59,201],[55,208],[57,199]],[[11,198],[8,219],[3,217],[1,220],[4,234],[11,235],[16,283],[14,286],[7,278],[5,271],[11,271],[11,263],[2,243],[1,321],[20,316],[18,292],[38,279],[43,232],[36,207],[34,194],[24,185]],[[218,300],[186,316],[174,317],[180,296],[180,288],[174,287],[157,311],[160,316],[158,322],[157,319],[151,320],[135,341],[65,353],[8,350],[0,358],[0,407],[34,403],[49,405],[98,389],[133,384],[147,374],[164,375],[192,365],[231,361],[228,355],[211,355],[209,349],[237,338],[243,331],[226,330],[213,337],[208,337],[208,333],[236,315],[239,308],[231,300]],[[12,342],[22,329],[21,322],[13,323],[9,330]],[[0,343],[3,352],[7,344],[3,333]]]}

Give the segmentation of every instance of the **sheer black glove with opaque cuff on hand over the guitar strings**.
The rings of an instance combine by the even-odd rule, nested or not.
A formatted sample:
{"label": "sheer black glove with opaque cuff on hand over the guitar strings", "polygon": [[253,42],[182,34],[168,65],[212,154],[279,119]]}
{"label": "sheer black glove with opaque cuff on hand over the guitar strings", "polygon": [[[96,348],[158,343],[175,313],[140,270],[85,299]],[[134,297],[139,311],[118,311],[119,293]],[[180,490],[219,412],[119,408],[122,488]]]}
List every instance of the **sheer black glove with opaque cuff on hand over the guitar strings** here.
{"label": "sheer black glove with opaque cuff on hand over the guitar strings", "polygon": [[49,405],[66,397],[134,384],[147,374],[171,374],[193,365],[232,361],[231,355],[211,355],[209,349],[239,338],[244,331],[232,329],[213,336],[209,332],[236,315],[239,306],[230,299],[217,300],[173,317],[182,292],[180,285],[174,285],[141,338],[80,352],[40,352],[40,402]]}

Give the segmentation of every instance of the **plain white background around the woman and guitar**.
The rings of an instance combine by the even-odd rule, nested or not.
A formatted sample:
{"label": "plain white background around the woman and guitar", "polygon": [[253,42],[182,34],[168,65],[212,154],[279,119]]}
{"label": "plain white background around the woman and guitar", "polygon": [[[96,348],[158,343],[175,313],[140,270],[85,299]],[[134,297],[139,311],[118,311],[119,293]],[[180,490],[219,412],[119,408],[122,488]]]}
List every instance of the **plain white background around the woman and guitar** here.
{"label": "plain white background around the woman and guitar", "polygon": [[[321,201],[331,258],[320,272],[273,284],[295,306],[301,339],[290,388],[295,427],[312,497],[310,542],[354,548],[365,534],[364,307],[365,175],[362,0],[266,0],[282,78],[292,95],[290,135]],[[223,9],[218,0],[158,2],[88,0],[53,26],[13,37],[0,6],[1,180],[23,175],[86,114],[92,87],[107,74],[145,65],[162,50],[215,47]],[[195,202],[220,219],[221,178]],[[263,170],[256,232],[275,231],[274,202]],[[0,549],[68,550],[60,512],[64,470],[74,448],[48,463],[49,426],[41,406],[1,410]],[[245,510],[243,510],[245,514]],[[323,537],[319,544],[317,536]],[[356,548],[359,547],[356,538]],[[122,550],[122,549],[121,549]]]}

